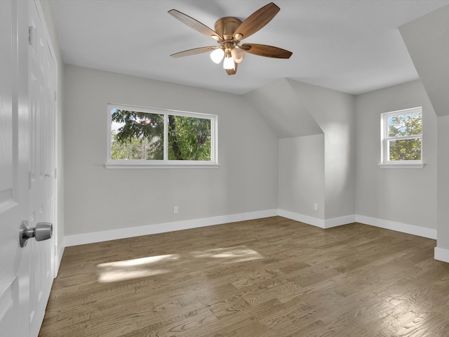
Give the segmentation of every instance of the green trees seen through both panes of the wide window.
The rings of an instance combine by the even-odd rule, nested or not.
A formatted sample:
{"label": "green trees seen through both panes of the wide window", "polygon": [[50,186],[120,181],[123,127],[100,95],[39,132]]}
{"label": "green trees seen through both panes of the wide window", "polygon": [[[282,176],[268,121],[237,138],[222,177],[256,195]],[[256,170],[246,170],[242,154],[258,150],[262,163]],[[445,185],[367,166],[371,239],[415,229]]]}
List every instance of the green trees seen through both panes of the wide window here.
{"label": "green trees seen through both panes of the wide window", "polygon": [[208,118],[111,109],[111,121],[111,159],[162,160],[167,139],[168,160],[211,160]]}

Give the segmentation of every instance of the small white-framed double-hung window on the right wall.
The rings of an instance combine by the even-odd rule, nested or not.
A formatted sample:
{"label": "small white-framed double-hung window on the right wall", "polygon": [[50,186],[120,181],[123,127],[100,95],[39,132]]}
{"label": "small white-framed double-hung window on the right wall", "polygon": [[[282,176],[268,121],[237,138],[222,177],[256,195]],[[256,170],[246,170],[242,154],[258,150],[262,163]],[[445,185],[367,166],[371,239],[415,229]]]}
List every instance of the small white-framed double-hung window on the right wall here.
{"label": "small white-framed double-hung window on the right wall", "polygon": [[381,114],[381,167],[422,168],[422,107]]}

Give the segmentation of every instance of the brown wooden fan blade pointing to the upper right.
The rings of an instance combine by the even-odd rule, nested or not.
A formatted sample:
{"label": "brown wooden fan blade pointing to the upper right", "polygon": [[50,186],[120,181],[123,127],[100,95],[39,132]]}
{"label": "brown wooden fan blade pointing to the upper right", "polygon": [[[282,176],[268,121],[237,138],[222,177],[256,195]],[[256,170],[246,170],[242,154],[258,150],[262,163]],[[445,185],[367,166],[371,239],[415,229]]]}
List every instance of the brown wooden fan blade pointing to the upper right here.
{"label": "brown wooden fan blade pointing to the upper right", "polygon": [[241,25],[234,33],[234,39],[240,41],[242,39],[246,39],[250,35],[253,35],[259,29],[264,27],[264,25],[267,25],[267,23],[270,22],[280,10],[281,8],[272,2],[258,9],[253,14],[248,16],[246,20],[241,22]]}

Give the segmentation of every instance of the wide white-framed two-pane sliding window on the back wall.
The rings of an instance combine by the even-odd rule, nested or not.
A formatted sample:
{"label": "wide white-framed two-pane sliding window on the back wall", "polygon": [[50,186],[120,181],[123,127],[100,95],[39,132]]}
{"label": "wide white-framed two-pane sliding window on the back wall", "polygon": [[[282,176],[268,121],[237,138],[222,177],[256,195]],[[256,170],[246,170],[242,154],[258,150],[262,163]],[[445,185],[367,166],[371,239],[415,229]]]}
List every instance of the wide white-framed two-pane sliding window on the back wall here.
{"label": "wide white-framed two-pane sliding window on the back wall", "polygon": [[107,168],[217,164],[217,116],[107,105]]}

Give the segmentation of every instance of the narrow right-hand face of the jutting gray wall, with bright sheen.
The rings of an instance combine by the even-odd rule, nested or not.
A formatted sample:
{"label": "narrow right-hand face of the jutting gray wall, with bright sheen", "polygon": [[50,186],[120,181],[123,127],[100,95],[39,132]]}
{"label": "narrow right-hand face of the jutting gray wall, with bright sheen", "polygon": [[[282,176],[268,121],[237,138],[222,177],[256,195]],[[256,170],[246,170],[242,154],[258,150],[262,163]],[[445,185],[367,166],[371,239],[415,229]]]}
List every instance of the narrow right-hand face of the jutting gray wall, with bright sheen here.
{"label": "narrow right-hand face of the jutting gray wall, with bright sheen", "polygon": [[324,133],[325,218],[354,215],[354,96],[300,81],[289,83]]}

